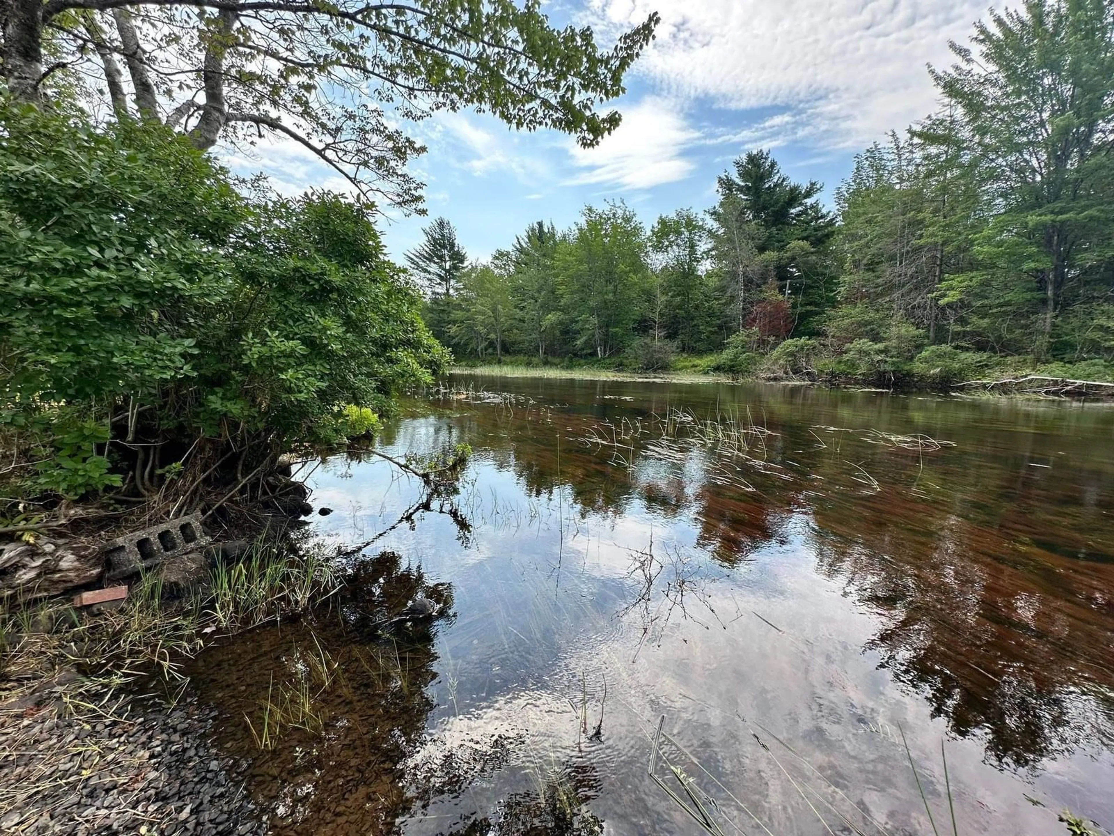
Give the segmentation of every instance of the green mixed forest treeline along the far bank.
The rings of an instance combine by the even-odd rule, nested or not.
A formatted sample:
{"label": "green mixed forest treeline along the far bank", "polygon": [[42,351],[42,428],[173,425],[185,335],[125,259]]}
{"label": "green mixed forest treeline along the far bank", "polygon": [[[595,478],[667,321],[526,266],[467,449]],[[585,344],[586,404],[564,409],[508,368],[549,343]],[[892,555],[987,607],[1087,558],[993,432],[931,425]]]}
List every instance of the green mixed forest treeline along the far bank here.
{"label": "green mixed forest treeline along the far bank", "polygon": [[834,211],[750,150],[648,227],[608,202],[469,263],[438,218],[408,254],[427,323],[460,359],[1114,380],[1114,6],[1028,2],[951,49],[939,109],[860,153]]}

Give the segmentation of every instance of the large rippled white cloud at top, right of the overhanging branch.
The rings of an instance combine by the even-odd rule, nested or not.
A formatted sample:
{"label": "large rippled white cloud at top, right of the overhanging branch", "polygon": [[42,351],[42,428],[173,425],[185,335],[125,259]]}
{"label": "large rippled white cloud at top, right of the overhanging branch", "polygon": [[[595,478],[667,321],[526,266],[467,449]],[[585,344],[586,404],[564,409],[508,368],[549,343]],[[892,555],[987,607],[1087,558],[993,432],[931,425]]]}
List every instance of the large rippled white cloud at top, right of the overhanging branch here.
{"label": "large rippled white cloud at top, right of the overhanging branch", "polygon": [[[808,138],[861,146],[934,107],[925,65],[949,62],[988,0],[589,0],[614,37],[657,10],[657,39],[635,64],[663,96],[784,113],[756,144]],[[778,120],[782,119],[782,123]]]}

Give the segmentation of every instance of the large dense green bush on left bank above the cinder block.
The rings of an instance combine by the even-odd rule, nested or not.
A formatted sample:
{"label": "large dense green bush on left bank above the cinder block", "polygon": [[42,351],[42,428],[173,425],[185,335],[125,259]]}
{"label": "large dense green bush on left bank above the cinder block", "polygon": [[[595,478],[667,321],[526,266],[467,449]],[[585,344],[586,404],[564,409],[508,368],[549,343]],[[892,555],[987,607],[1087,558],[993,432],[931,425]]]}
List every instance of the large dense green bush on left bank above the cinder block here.
{"label": "large dense green bush on left bank above the cinder block", "polygon": [[335,443],[446,360],[362,208],[127,119],[0,103],[0,420],[67,496]]}

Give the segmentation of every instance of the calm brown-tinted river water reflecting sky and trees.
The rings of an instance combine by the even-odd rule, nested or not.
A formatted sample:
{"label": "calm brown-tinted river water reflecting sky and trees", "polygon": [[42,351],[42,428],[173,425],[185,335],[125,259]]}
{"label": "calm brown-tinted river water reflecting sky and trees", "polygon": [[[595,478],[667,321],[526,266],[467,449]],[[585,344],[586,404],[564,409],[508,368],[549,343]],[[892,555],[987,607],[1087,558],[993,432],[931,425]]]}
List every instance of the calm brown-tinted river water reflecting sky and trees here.
{"label": "calm brown-tinted river water reflecting sky and trees", "polygon": [[[380,448],[471,445],[458,493],[348,558],[330,612],[192,671],[276,833],[1114,824],[1114,410],[455,382],[502,395],[410,399]],[[312,484],[336,545],[421,495],[381,459]],[[377,626],[419,590],[449,615]]]}

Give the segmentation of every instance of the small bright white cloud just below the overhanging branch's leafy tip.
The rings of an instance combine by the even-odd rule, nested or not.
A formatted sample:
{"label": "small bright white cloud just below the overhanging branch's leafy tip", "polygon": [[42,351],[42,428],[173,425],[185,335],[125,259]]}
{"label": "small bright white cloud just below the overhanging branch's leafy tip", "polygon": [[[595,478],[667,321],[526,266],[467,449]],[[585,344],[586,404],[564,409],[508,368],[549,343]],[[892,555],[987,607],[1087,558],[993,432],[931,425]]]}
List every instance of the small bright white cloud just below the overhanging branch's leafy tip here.
{"label": "small bright white cloud just below the overhanging branch's leafy tip", "polygon": [[622,110],[622,124],[597,147],[571,147],[573,164],[579,173],[569,185],[649,188],[684,179],[692,173],[695,164],[684,156],[684,150],[701,135],[675,103],[647,97]]}

